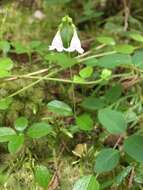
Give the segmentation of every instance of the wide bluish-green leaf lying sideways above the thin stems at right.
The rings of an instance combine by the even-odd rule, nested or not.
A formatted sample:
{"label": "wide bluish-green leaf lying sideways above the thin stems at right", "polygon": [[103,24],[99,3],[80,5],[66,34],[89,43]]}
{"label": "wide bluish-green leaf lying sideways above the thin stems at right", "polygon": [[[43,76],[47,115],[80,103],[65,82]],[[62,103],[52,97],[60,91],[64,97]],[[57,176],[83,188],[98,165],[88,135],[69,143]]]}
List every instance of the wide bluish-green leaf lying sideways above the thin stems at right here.
{"label": "wide bluish-green leaf lying sideways above the thin stems at right", "polygon": [[98,60],[98,66],[113,69],[120,65],[132,64],[131,56],[125,54],[105,55]]}

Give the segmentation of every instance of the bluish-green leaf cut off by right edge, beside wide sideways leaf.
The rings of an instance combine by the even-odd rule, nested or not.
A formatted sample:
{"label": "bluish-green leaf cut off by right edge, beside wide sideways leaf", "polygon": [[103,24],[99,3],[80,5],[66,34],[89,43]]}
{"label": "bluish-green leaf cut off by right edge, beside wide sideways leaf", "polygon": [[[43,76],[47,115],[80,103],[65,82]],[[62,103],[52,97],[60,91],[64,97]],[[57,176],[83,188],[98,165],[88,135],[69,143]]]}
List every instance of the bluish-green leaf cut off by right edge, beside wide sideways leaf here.
{"label": "bluish-green leaf cut off by right edge, beside wide sideways leaf", "polygon": [[136,51],[132,57],[133,64],[143,69],[143,51]]}

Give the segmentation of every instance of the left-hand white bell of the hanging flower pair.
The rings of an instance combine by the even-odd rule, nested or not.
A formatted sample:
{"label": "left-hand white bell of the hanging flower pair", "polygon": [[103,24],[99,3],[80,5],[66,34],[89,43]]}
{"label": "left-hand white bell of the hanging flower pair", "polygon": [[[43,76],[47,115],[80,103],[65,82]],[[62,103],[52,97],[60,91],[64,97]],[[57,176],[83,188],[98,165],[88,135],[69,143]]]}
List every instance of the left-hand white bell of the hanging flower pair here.
{"label": "left-hand white bell of the hanging flower pair", "polygon": [[62,52],[65,48],[63,46],[62,38],[60,35],[60,31],[56,33],[55,37],[53,38],[52,44],[49,46],[49,50],[57,50],[58,52]]}

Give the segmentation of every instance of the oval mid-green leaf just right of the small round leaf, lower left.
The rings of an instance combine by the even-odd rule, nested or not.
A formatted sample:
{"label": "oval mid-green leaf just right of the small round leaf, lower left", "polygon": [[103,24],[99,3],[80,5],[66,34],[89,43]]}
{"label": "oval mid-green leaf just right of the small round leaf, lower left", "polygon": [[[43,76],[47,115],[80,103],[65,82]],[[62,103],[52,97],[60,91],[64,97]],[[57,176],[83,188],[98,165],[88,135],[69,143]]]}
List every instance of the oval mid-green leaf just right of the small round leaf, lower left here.
{"label": "oval mid-green leaf just right of the small round leaf, lower left", "polygon": [[52,126],[45,122],[34,123],[27,131],[31,138],[41,138],[52,132]]}

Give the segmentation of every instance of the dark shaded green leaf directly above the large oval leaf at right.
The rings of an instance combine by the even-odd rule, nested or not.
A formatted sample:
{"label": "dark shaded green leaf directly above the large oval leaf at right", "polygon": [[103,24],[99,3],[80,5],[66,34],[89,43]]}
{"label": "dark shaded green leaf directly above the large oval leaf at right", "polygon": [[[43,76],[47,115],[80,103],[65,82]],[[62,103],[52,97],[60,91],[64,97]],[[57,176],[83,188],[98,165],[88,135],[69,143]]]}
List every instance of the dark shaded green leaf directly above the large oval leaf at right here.
{"label": "dark shaded green leaf directly above the large oval leaf at right", "polygon": [[112,86],[106,93],[105,99],[106,101],[113,103],[117,101],[122,94],[122,86],[120,84]]}

